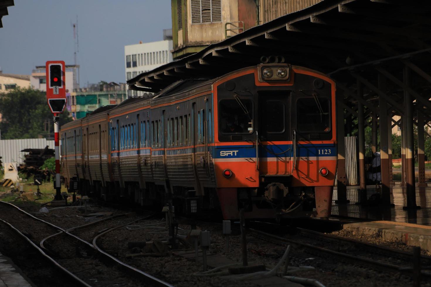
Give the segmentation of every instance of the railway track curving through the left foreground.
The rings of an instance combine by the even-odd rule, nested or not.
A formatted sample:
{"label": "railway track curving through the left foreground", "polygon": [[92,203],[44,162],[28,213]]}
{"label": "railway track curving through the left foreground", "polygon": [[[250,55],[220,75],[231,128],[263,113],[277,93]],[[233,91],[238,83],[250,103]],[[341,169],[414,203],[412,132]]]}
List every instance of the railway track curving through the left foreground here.
{"label": "railway track curving through the left foreground", "polygon": [[172,286],[12,204],[0,201],[0,206],[1,222],[25,238],[55,268],[74,281],[75,286]]}

